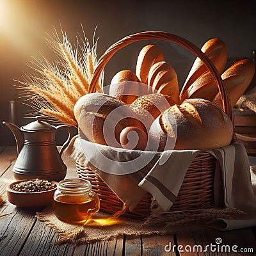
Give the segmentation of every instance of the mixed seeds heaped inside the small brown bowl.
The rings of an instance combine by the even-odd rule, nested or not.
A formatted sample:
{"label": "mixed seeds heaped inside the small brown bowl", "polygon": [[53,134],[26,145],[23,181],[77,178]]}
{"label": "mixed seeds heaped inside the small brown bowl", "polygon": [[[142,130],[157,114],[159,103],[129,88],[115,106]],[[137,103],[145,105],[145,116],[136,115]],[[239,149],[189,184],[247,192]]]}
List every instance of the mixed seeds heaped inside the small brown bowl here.
{"label": "mixed seeds heaped inside the small brown bowl", "polygon": [[48,180],[26,180],[18,184],[14,184],[11,189],[18,192],[42,192],[56,188],[57,185],[49,182]]}

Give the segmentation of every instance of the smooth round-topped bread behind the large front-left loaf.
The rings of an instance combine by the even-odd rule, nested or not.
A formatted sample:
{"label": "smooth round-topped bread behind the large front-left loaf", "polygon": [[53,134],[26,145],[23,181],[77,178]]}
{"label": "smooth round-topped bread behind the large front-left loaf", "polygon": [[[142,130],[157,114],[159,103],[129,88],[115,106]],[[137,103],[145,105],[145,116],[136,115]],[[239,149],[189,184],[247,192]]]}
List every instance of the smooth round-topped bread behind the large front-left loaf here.
{"label": "smooth round-topped bread behind the large front-left loaf", "polygon": [[109,95],[126,104],[132,104],[138,97],[148,93],[148,86],[140,83],[140,79],[131,70],[116,73],[109,86]]}

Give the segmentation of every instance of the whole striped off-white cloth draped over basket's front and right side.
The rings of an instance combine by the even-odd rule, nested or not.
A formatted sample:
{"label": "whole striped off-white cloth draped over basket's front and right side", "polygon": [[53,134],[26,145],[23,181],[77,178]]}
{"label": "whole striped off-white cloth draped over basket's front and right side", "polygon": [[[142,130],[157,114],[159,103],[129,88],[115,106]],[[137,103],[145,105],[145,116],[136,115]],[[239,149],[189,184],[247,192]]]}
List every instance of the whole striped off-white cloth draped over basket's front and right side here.
{"label": "whole striped off-white cloth draped over basket's front and right side", "polygon": [[[78,136],[73,138],[66,151],[81,161],[86,168],[94,170],[131,211],[147,191],[156,198],[163,211],[172,210],[172,204],[179,193],[189,164],[200,152],[124,150],[91,143]],[[215,220],[209,225],[215,228],[225,227],[225,230],[256,225],[256,196],[253,193],[250,164],[244,146],[241,143],[233,143],[209,153],[215,156],[219,163],[216,165],[214,179],[216,206],[246,212],[244,220]],[[134,162],[141,154],[144,158]],[[106,157],[110,160],[106,160]],[[136,170],[134,168],[138,163],[141,163],[142,167]]]}

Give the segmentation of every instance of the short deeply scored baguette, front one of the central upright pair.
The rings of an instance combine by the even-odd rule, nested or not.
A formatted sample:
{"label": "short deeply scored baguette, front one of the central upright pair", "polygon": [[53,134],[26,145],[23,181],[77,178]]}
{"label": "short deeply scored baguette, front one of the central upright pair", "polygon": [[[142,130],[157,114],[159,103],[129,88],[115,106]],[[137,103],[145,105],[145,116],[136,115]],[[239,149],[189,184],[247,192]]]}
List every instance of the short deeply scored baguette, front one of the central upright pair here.
{"label": "short deeply scored baguette, front one of the central upright pair", "polygon": [[148,72],[148,85],[152,86],[153,92],[170,95],[176,103],[179,103],[177,74],[166,61],[152,65]]}

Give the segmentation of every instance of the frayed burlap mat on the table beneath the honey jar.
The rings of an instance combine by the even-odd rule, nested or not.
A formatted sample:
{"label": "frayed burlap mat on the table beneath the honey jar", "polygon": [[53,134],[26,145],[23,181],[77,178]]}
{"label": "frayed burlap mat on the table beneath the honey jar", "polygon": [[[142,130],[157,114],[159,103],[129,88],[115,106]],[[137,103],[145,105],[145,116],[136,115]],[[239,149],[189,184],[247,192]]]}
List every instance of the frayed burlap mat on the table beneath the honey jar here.
{"label": "frayed burlap mat on the table beneath the honey jar", "polygon": [[159,230],[158,227],[143,228],[141,221],[125,218],[112,218],[108,213],[97,212],[92,220],[88,221],[83,228],[81,225],[72,225],[58,220],[52,208],[46,208],[42,212],[36,212],[40,221],[51,227],[58,233],[59,241],[72,243],[90,243],[93,241],[121,238],[125,236],[147,236],[154,234],[165,234],[167,230]]}

